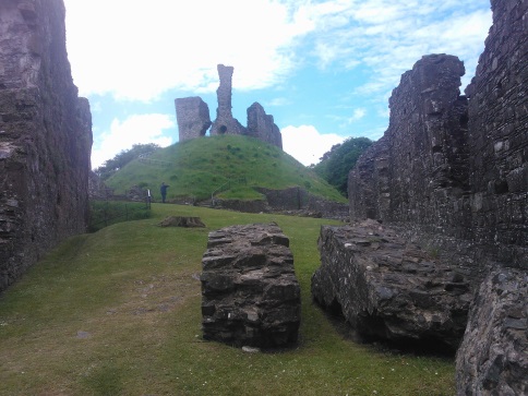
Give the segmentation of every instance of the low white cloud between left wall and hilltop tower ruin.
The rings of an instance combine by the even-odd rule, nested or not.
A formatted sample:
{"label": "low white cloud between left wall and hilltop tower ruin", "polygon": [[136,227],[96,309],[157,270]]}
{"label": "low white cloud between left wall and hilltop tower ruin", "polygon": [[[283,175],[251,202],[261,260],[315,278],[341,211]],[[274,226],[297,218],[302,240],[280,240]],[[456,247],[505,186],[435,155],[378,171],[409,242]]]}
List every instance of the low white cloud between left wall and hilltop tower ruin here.
{"label": "low white cloud between left wall and hilltop tower ruin", "polygon": [[167,115],[134,115],[123,121],[113,119],[110,130],[100,134],[99,143],[92,151],[92,168],[99,167],[134,144],[170,145],[172,137],[164,135],[164,131],[169,129],[172,129],[171,134],[176,134],[172,117]]}

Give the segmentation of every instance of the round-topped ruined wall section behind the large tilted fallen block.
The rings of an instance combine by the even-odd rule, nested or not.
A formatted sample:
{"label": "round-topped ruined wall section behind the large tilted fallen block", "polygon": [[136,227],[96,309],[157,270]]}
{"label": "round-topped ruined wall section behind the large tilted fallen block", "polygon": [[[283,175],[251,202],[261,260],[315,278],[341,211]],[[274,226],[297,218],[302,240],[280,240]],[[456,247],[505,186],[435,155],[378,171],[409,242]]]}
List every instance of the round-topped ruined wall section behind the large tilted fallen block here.
{"label": "round-topped ruined wall section behind the large tilted fallen block", "polygon": [[[352,216],[413,223],[430,232],[469,238],[467,99],[464,64],[431,55],[401,76],[391,121],[349,177]],[[367,194],[363,191],[367,190]]]}

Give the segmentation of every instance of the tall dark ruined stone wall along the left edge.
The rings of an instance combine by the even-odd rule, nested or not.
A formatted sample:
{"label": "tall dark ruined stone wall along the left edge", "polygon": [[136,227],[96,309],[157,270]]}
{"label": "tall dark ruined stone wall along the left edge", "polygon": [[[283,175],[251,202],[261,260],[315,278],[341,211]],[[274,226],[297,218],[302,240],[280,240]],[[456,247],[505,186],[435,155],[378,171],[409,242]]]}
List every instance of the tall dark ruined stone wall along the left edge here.
{"label": "tall dark ruined stone wall along the left edge", "polygon": [[0,2],[0,291],[63,238],[83,232],[92,147],[62,0]]}

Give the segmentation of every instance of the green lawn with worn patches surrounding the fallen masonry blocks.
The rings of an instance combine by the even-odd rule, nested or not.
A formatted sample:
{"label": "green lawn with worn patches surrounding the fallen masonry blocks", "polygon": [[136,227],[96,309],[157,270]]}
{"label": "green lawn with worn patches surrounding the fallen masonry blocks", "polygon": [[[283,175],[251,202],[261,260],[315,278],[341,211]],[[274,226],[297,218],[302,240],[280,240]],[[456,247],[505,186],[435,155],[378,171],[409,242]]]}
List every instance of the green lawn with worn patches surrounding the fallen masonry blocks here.
{"label": "green lawn with worn patches surrounding the fallen masonry blocks", "polygon": [[[207,229],[160,228],[169,215]],[[245,353],[201,338],[207,233],[276,221],[302,292],[297,348]],[[0,296],[0,395],[453,395],[454,360],[344,338],[312,303],[325,219],[153,204],[152,217],[62,243]]]}

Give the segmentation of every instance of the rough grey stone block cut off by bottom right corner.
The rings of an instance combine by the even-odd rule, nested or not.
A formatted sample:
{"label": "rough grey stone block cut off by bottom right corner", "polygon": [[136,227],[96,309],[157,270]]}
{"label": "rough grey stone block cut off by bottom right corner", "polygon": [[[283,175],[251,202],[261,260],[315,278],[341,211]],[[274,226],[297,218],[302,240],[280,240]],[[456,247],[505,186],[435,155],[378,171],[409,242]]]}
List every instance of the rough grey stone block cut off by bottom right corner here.
{"label": "rough grey stone block cut off by bottom right corner", "polygon": [[457,352],[457,395],[528,393],[528,274],[499,268],[471,304]]}

